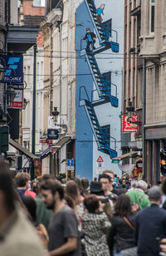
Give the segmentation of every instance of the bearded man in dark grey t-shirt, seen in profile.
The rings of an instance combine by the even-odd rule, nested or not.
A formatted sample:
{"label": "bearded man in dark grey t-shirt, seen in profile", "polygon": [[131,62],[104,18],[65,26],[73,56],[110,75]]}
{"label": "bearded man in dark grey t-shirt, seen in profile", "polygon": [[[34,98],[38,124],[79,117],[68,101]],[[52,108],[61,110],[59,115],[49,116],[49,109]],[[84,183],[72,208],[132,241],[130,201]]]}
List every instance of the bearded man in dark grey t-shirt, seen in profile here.
{"label": "bearded man in dark grey t-shirt, seen in profile", "polygon": [[41,194],[46,208],[53,209],[48,227],[49,255],[80,256],[76,214],[65,204],[62,185],[56,180],[45,180]]}

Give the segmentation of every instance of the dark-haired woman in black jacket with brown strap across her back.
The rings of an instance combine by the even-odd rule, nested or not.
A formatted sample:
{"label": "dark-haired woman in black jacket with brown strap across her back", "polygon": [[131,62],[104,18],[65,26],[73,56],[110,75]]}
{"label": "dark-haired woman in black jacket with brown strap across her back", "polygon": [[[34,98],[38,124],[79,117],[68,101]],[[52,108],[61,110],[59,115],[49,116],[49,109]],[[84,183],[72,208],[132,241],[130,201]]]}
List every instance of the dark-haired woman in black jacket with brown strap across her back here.
{"label": "dark-haired woman in black jacket with brown strap across her back", "polygon": [[132,213],[129,196],[120,194],[116,200],[115,214],[110,221],[111,227],[107,239],[111,256],[114,248],[116,249],[115,256],[136,255],[134,219],[135,215]]}

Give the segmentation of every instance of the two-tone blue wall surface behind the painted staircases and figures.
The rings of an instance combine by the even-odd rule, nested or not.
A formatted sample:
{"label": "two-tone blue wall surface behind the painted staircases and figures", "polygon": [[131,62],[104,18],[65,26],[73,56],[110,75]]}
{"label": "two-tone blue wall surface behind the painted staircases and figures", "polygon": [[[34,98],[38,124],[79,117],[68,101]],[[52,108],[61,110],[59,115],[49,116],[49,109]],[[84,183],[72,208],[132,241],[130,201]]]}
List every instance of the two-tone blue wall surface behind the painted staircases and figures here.
{"label": "two-tone blue wall surface behind the painted staircases and figures", "polygon": [[[124,3],[115,0],[94,1],[95,7],[100,7],[101,3],[105,3],[105,15],[103,22],[112,18],[112,29],[117,32],[119,52],[113,52],[112,49],[107,49],[95,55],[96,62],[99,66],[100,73],[111,71],[111,82],[117,86],[117,98],[119,106],[115,107],[107,102],[100,106],[94,106],[97,120],[101,126],[110,125],[110,148],[114,148],[117,155],[121,155],[120,151],[120,111],[121,111],[121,93],[122,93],[122,70],[123,70],[123,31],[124,31]],[[121,17],[121,18],[120,18]],[[89,98],[91,101],[92,91],[95,90],[94,96],[100,99],[96,91],[96,86],[93,77],[91,76],[90,67],[85,56],[80,56],[81,47],[85,48],[86,43],[81,37],[85,36],[85,29],[90,27],[91,32],[95,32],[94,24],[91,22],[90,13],[82,1],[76,9],[76,50],[77,50],[77,78],[76,78],[76,175],[86,177],[92,180],[98,176],[99,172],[105,169],[114,170],[118,175],[121,171],[118,165],[111,163],[109,154],[105,154],[99,150],[99,145],[96,143],[95,134],[92,132],[90,121],[85,112],[85,106],[81,105],[82,99]],[[96,32],[95,32],[96,34]],[[110,41],[115,41],[115,33],[112,34]],[[96,39],[95,47],[100,47],[100,42]],[[86,75],[85,75],[86,74]],[[87,95],[85,94],[84,88]],[[112,86],[112,93],[115,94],[115,86]],[[114,139],[112,139],[112,137]],[[116,141],[116,143],[115,143]],[[102,157],[102,168],[98,168],[97,159]]]}

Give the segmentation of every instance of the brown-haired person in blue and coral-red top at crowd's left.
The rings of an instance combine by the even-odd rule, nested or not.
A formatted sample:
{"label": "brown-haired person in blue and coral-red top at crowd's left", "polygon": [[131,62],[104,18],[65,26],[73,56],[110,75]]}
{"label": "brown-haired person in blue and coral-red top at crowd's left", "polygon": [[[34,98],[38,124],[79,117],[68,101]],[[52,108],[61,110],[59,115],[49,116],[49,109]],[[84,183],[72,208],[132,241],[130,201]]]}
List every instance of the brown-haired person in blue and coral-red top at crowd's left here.
{"label": "brown-haired person in blue and coral-red top at crowd's left", "polygon": [[37,194],[29,189],[30,175],[26,172],[19,172],[15,177],[17,192],[22,195],[29,195],[33,199],[36,198]]}

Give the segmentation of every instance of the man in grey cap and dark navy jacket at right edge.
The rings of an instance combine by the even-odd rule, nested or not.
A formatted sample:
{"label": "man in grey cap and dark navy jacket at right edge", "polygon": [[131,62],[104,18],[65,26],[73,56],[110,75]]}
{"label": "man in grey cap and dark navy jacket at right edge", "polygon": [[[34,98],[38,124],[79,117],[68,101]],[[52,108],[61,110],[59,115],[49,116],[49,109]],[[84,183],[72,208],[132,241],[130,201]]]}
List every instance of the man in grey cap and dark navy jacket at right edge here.
{"label": "man in grey cap and dark navy jacket at right edge", "polygon": [[161,191],[153,186],[149,191],[150,206],[139,211],[135,219],[135,241],[138,256],[160,255],[160,240],[166,237],[166,211],[161,209]]}

